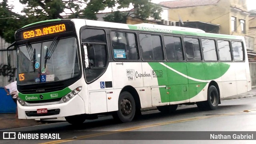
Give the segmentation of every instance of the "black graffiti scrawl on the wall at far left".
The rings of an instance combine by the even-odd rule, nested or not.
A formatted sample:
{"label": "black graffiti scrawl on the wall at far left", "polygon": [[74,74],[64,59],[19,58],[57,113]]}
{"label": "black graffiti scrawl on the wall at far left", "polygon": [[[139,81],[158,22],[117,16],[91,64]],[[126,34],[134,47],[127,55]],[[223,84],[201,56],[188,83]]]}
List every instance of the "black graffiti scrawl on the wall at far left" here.
{"label": "black graffiti scrawl on the wall at far left", "polygon": [[14,81],[16,68],[7,64],[0,64],[0,76],[9,76],[8,82]]}

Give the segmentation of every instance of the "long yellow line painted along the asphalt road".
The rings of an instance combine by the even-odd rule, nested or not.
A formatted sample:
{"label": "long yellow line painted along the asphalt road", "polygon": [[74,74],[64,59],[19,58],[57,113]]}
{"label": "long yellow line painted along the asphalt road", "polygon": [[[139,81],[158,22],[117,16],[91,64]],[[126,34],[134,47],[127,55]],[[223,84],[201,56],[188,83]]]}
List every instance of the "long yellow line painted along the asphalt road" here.
{"label": "long yellow line painted along the asphalt road", "polygon": [[41,144],[57,144],[57,143],[62,143],[62,142],[69,142],[69,141],[73,141],[73,140],[80,140],[80,139],[84,139],[84,138],[91,138],[91,137],[95,137],[95,136],[102,136],[102,135],[106,135],[106,134],[114,134],[114,133],[118,133],[118,132],[126,132],[126,131],[131,131],[131,130],[138,130],[141,128],[149,128],[149,127],[153,127],[153,126],[162,126],[162,125],[166,125],[166,124],[174,124],[174,123],[178,123],[178,122],[187,122],[187,121],[191,121],[191,120],[200,120],[200,119],[205,119],[205,118],[213,118],[213,117],[217,117],[217,116],[229,116],[229,115],[234,115],[234,114],[238,114],[240,112],[232,112],[232,113],[228,113],[228,114],[218,114],[218,115],[211,115],[211,116],[202,116],[202,117],[197,117],[197,118],[189,118],[189,119],[184,119],[184,120],[176,120],[176,121],[171,121],[171,122],[162,122],[162,123],[158,123],[158,124],[150,124],[150,125],[146,125],[146,126],[136,126],[136,127],[132,127],[132,128],[124,128],[124,129],[120,129],[120,130],[114,130],[111,132],[100,132],[97,134],[88,134],[85,136],[78,136],[77,138],[68,138],[65,140],[55,140],[55,141],[51,141],[51,142],[45,142],[45,143],[41,143]]}

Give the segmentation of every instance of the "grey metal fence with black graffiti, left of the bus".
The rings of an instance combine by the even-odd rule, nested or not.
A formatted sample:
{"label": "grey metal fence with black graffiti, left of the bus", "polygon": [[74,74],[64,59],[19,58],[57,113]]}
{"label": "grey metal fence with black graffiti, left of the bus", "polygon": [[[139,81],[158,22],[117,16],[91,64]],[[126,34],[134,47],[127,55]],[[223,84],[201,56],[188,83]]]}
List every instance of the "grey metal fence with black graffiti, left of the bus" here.
{"label": "grey metal fence with black graffiti, left of the bus", "polygon": [[10,44],[0,37],[0,87],[6,86],[16,78],[16,50],[7,51],[8,46]]}

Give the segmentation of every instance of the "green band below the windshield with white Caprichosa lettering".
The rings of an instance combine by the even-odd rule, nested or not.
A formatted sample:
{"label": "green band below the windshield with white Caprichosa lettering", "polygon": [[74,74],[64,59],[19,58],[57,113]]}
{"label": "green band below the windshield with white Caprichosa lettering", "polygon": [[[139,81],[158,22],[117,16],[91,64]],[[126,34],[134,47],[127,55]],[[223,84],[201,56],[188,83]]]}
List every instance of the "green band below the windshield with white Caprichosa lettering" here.
{"label": "green band below the windshield with white Caprichosa lettering", "polygon": [[[64,88],[63,90],[59,90],[56,92],[46,92],[40,94],[22,94],[19,92],[18,96],[20,99],[24,101],[35,101],[35,100],[50,100],[55,98],[62,98],[63,96],[70,93],[72,90],[70,88]],[[40,99],[40,95],[43,95],[43,99]]]}

